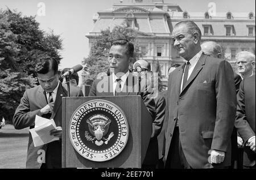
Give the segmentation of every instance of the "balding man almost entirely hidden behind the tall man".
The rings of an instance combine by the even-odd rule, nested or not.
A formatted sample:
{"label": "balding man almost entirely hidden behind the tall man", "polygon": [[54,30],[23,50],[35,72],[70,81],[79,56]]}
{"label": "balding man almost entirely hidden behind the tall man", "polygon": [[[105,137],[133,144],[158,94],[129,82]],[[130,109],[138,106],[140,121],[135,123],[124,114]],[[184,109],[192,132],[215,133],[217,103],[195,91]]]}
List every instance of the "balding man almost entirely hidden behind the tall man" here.
{"label": "balding man almost entirely hidden behind the tall man", "polygon": [[[222,50],[221,46],[217,44],[214,41],[205,41],[203,44],[201,44],[201,48],[205,55],[209,55],[210,57],[214,58],[222,58]],[[234,82],[236,86],[236,93],[239,91],[240,83],[242,81],[242,78],[240,75],[236,74],[234,72]],[[238,149],[237,146],[237,130],[236,127],[233,128],[233,132],[231,135],[231,149],[232,149],[232,155],[231,155],[231,169],[234,168],[242,168],[242,149]]]}

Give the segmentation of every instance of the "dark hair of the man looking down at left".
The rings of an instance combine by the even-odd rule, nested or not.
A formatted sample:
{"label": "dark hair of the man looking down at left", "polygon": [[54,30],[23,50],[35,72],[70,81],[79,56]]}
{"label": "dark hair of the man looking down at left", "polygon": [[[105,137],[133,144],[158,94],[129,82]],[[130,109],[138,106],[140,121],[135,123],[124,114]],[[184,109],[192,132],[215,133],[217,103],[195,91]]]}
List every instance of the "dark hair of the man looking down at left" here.
{"label": "dark hair of the man looking down at left", "polygon": [[47,74],[50,70],[54,71],[54,74],[58,72],[58,63],[55,59],[50,57],[40,58],[35,65],[36,74]]}

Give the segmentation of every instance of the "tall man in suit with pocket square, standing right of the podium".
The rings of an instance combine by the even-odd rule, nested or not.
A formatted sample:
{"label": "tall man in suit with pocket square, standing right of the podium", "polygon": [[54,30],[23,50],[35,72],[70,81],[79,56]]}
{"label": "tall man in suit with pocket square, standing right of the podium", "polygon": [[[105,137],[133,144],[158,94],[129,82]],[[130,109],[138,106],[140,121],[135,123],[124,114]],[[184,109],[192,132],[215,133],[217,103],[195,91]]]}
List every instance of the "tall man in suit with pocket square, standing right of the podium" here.
{"label": "tall man in suit with pocket square, standing right of the podium", "polygon": [[236,113],[232,67],[203,53],[194,22],[177,23],[172,34],[186,63],[168,78],[166,168],[226,168]]}

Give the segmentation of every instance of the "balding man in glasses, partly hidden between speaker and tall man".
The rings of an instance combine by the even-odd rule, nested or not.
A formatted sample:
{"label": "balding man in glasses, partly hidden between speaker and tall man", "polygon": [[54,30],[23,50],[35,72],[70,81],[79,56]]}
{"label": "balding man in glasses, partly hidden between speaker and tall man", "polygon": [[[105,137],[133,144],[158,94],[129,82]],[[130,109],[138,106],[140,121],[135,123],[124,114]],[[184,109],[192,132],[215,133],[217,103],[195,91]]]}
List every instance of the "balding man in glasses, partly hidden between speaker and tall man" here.
{"label": "balding man in glasses, partly hidden between speaker and tall man", "polygon": [[[154,83],[154,75],[155,78],[158,78],[158,74],[153,74],[151,71],[150,63],[148,63],[144,59],[139,59],[136,61],[133,65],[133,73],[134,75],[138,75],[138,71],[136,70],[136,65],[141,66],[141,76],[142,78],[147,78],[151,82],[151,87],[156,88],[156,91],[158,92],[158,84]],[[156,110],[156,117],[152,123],[152,134],[150,143],[148,144],[146,157],[144,158],[142,168],[159,168],[156,167],[156,165],[159,166],[158,160],[159,156],[162,157],[162,149],[159,148],[158,142],[158,135],[160,134],[160,131],[163,127],[163,121],[164,121],[164,112],[166,110],[166,100],[162,93],[158,93],[158,95],[154,98],[155,101],[155,110]],[[160,152],[160,154],[159,154]]]}

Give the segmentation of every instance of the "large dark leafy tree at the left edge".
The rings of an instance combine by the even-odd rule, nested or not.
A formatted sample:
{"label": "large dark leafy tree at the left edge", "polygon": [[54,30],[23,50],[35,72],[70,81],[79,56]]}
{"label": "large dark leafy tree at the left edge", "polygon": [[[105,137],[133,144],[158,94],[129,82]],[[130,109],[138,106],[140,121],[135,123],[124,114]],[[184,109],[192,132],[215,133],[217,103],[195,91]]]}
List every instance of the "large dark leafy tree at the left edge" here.
{"label": "large dark leafy tree at the left edge", "polygon": [[60,36],[40,30],[34,16],[0,10],[0,116],[11,121],[24,91],[37,83],[37,59],[59,63],[61,49]]}

